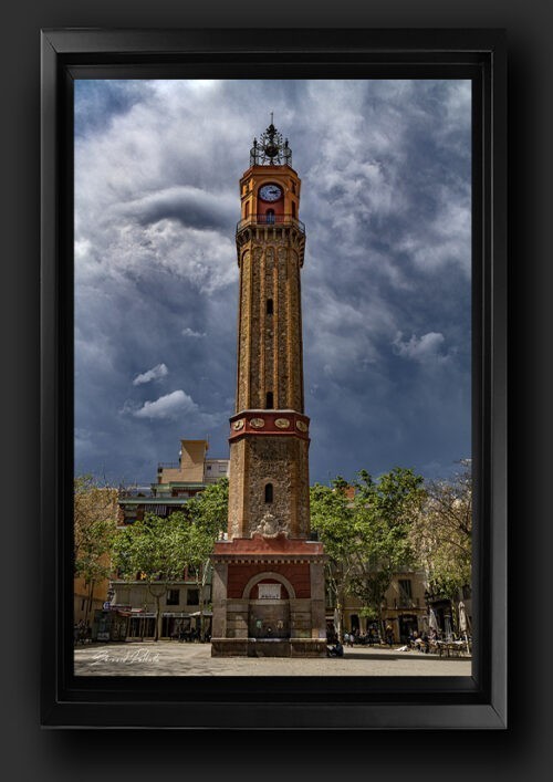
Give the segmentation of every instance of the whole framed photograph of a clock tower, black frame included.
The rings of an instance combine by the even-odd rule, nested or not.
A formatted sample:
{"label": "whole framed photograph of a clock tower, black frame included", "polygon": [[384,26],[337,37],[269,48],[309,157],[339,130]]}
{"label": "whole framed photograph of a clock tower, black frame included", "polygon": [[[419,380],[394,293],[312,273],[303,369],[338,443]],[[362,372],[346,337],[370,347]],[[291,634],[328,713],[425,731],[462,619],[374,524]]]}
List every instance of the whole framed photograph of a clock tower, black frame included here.
{"label": "whole framed photograph of a clock tower, black frame included", "polygon": [[507,727],[505,71],[42,32],[44,727]]}

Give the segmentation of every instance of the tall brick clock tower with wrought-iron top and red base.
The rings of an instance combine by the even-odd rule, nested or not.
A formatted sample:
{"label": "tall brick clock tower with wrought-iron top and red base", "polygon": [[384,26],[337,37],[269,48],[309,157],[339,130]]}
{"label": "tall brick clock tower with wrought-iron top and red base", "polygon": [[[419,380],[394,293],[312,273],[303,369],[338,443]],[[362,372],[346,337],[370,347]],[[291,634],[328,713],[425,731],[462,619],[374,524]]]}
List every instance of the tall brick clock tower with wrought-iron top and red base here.
{"label": "tall brick clock tower with wrought-iron top and red base", "polygon": [[301,180],[272,123],[240,180],[228,533],[212,554],[213,656],[325,656],[324,554],[310,540]]}

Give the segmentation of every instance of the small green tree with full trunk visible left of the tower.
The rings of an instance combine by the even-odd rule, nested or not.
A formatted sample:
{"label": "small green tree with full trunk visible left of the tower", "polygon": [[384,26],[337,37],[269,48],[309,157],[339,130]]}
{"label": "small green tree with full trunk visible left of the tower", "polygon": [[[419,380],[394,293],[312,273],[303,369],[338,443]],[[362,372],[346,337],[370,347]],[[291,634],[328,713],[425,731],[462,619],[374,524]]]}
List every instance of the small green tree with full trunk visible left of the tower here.
{"label": "small green tree with full trunk visible left of the tower", "polygon": [[166,519],[146,514],[114,539],[114,566],[123,577],[140,574],[149,594],[156,601],[157,623],[154,640],[161,633],[161,597],[175,581],[184,576],[188,554],[189,521],[185,513],[175,512]]}

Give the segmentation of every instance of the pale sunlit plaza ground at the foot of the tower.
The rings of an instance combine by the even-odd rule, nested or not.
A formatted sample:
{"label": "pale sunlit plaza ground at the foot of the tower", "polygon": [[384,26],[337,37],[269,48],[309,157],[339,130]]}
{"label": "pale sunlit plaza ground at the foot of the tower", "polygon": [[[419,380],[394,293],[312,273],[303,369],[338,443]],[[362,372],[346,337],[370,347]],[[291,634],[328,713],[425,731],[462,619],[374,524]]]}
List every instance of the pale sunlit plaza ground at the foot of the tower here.
{"label": "pale sunlit plaza ground at the foot of the tower", "polygon": [[470,676],[469,657],[346,648],[343,658],[211,657],[210,644],[90,644],[75,648],[76,676]]}

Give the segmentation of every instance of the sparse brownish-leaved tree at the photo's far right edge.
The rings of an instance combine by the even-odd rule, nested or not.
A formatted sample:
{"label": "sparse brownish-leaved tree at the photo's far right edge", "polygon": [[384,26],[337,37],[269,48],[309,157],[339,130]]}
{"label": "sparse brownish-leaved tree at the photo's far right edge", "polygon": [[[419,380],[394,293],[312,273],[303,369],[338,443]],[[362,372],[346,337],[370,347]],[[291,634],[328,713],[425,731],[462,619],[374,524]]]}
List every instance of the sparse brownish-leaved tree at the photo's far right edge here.
{"label": "sparse brownish-leaved tree at the photo's far right edge", "polygon": [[456,601],[471,584],[472,472],[470,460],[449,480],[430,481],[410,531],[416,555],[432,591]]}

